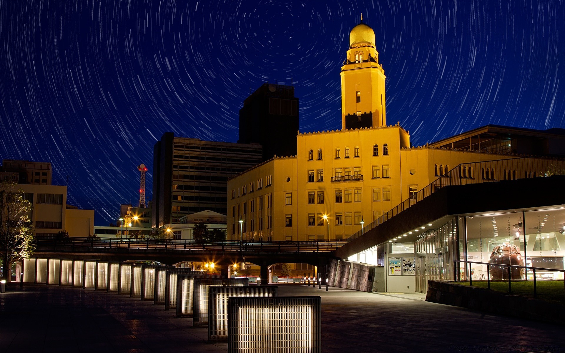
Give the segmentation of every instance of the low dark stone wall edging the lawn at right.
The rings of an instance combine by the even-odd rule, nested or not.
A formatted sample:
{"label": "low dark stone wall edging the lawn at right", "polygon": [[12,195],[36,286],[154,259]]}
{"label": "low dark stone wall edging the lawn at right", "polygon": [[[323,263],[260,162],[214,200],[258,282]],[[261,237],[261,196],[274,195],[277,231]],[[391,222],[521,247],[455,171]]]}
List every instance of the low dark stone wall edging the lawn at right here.
{"label": "low dark stone wall edging the lawn at right", "polygon": [[510,295],[457,282],[428,281],[427,302],[565,324],[565,306],[541,299]]}

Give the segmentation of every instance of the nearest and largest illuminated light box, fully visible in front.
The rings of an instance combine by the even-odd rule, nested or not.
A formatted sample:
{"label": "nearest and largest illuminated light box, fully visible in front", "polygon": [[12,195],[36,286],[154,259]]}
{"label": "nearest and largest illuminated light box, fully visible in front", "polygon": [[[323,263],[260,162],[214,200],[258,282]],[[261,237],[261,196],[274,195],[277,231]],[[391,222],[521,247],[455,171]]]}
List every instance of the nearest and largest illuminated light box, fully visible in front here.
{"label": "nearest and largest illuminated light box, fully visible in front", "polygon": [[228,352],[321,352],[320,297],[228,299]]}

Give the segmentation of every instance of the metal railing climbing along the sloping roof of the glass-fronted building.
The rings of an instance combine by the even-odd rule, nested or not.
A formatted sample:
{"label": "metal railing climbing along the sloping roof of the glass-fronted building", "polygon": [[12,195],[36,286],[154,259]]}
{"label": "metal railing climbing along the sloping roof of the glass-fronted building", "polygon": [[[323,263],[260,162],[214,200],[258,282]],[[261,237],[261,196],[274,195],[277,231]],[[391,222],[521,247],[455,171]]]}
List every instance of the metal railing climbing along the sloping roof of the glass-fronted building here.
{"label": "metal railing climbing along the sloping roof of the glass-fronted building", "polygon": [[352,241],[376,226],[383,224],[385,221],[422,201],[444,186],[482,184],[483,182],[515,180],[545,175],[565,175],[565,160],[523,157],[462,163],[449,172],[445,172],[443,176],[439,176],[417,193],[410,194],[405,201],[384,213],[384,215],[380,216],[372,223],[366,224],[363,229],[347,238],[347,241]]}

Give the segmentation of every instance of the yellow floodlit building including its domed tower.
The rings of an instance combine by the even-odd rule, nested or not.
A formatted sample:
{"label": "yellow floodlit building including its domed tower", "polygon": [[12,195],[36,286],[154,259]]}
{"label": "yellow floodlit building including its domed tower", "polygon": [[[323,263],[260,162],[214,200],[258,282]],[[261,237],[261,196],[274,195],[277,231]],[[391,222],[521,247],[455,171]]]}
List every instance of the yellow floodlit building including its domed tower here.
{"label": "yellow floodlit building including its domed tower", "polygon": [[[526,145],[519,141],[550,138],[488,125],[412,147],[405,129],[386,125],[378,55],[371,27],[354,27],[341,71],[342,129],[299,133],[296,156],[228,180],[228,239],[345,239],[461,163],[518,158],[516,150],[525,153],[519,147]],[[502,178],[497,173],[492,180]]]}

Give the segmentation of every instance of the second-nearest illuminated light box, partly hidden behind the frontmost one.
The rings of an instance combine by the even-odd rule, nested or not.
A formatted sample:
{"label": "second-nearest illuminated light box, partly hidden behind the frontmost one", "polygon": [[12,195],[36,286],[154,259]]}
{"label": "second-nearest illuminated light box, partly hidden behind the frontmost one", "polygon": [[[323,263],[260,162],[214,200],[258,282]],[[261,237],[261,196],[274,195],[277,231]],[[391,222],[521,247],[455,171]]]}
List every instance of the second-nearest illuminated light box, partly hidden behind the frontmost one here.
{"label": "second-nearest illuminated light box, partly hidden behind the frontmost one", "polygon": [[229,297],[277,297],[279,287],[210,287],[208,293],[208,341],[227,341]]}

